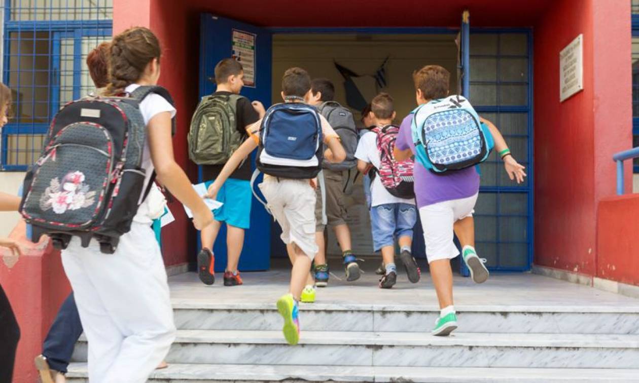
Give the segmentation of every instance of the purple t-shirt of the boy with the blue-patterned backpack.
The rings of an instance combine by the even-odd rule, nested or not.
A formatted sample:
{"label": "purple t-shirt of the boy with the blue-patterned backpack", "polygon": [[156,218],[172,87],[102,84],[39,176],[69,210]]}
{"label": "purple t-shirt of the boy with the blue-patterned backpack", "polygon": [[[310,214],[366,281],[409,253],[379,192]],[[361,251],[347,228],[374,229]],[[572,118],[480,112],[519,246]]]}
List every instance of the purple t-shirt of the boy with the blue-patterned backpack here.
{"label": "purple t-shirt of the boy with the blue-patterned backpack", "polygon": [[[410,149],[415,154],[411,133],[413,114],[409,114],[401,126],[395,145],[397,149]],[[479,192],[479,174],[475,167],[435,174],[415,161],[415,196],[417,206],[424,207],[438,202],[472,197]]]}

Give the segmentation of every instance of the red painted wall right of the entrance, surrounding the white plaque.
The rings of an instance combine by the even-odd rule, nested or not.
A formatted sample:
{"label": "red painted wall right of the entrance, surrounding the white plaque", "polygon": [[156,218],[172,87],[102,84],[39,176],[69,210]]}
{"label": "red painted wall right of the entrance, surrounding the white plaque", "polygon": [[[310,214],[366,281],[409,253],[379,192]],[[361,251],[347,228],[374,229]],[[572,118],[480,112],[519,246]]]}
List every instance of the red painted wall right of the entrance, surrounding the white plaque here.
{"label": "red painted wall right of the entrance, surrounding the white plaque", "polygon": [[[534,27],[535,264],[595,274],[597,204],[631,146],[629,23],[627,2],[561,0]],[[584,90],[560,103],[559,52],[580,33]]]}

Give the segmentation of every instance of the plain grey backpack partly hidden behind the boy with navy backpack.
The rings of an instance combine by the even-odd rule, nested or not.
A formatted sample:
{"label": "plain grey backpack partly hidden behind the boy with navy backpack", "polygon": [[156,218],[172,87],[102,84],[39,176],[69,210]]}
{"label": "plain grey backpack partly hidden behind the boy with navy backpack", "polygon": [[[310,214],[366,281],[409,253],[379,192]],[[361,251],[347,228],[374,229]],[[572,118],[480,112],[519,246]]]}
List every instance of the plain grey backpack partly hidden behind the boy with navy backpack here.
{"label": "plain grey backpack partly hidden behind the boy with navy backpack", "polygon": [[323,161],[324,169],[335,170],[340,172],[348,170],[355,166],[355,150],[357,150],[357,129],[355,128],[355,120],[353,114],[348,108],[343,107],[337,101],[326,101],[318,107],[319,113],[327,119],[328,123],[339,135],[339,139],[346,151],[346,160],[340,163],[330,163]]}

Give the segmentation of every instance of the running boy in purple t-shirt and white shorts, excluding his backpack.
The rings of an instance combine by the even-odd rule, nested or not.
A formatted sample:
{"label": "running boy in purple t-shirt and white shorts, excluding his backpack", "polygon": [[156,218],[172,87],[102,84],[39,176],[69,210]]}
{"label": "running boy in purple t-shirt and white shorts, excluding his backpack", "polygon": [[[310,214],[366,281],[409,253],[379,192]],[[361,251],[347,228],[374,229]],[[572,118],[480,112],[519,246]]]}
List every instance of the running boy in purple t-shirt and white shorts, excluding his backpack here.
{"label": "running boy in purple t-shirt and white shorts, excluding his backpack", "polygon": [[[427,65],[413,73],[417,104],[444,98],[449,94],[450,73],[438,65]],[[495,125],[481,119],[495,140],[495,149],[504,160],[505,170],[517,183],[526,176],[524,167],[514,160],[508,146]],[[399,128],[395,146],[396,160],[401,161],[415,154],[412,138],[413,114],[404,118]],[[433,284],[440,304],[440,317],[434,335],[446,336],[457,328],[457,317],[452,302],[452,269],[450,259],[459,251],[453,242],[457,234],[462,246],[462,257],[470,269],[473,281],[485,282],[488,269],[485,260],[475,252],[475,227],[472,218],[479,193],[479,174],[475,167],[435,174],[415,161],[415,196],[420,220],[424,229],[426,257],[433,277]]]}

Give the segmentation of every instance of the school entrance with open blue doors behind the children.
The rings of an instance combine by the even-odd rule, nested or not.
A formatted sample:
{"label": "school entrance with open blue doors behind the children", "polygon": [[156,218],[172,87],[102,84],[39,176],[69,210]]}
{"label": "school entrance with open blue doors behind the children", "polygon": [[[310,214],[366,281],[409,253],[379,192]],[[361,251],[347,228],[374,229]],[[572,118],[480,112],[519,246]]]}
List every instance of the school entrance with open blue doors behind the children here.
{"label": "school entrance with open blue doors behind the children", "polygon": [[[470,16],[470,17],[468,17]],[[256,27],[212,13],[200,16],[199,95],[215,90],[213,68],[234,56],[245,69],[242,94],[265,105],[282,102],[280,81],[291,66],[335,84],[335,100],[350,107],[356,121],[379,91],[395,100],[397,121],[413,110],[414,70],[438,64],[451,73],[451,93],[470,97],[482,117],[493,121],[512,152],[527,168],[532,164],[532,34],[527,28],[473,29],[472,15],[459,13],[459,27]],[[509,180],[496,153],[481,165],[481,192],[475,211],[477,250],[495,271],[528,271],[532,264],[532,172],[523,184]],[[353,252],[371,255],[373,245],[362,177],[345,172],[348,223]],[[350,177],[348,177],[350,176]],[[240,269],[265,270],[271,257],[286,257],[279,227],[254,200]],[[413,250],[425,258],[418,223]],[[268,233],[271,233],[268,235]],[[269,244],[270,243],[270,244]],[[328,229],[328,254],[340,254]],[[270,252],[266,251],[270,249]],[[220,232],[217,254],[226,253]],[[216,267],[226,266],[220,257]],[[466,270],[461,270],[466,274]]]}

